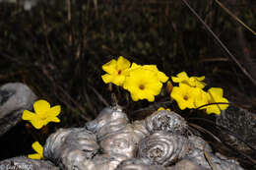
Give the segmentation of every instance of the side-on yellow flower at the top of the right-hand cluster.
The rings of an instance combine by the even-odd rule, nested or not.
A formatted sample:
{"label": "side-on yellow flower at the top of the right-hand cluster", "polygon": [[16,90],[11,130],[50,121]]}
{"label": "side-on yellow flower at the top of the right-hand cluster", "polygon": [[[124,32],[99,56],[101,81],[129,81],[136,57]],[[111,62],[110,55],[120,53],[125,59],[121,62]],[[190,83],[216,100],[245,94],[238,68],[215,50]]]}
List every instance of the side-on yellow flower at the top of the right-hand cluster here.
{"label": "side-on yellow flower at the top of the right-hand cluster", "polygon": [[183,84],[187,84],[193,87],[200,87],[200,88],[204,88],[205,87],[205,83],[203,83],[202,81],[205,80],[205,77],[188,77],[186,72],[181,72],[179,74],[177,74],[177,77],[171,77],[171,80],[174,83],[183,83]]}

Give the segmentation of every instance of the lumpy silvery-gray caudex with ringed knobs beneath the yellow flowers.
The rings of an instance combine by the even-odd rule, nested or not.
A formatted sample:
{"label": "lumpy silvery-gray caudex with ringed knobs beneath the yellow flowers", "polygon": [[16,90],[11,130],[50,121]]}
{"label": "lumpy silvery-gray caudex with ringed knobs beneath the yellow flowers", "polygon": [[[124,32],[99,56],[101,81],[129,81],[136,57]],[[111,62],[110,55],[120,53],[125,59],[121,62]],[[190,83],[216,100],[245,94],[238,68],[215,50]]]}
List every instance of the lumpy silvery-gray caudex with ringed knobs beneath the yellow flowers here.
{"label": "lumpy silvery-gray caudex with ringed knobs beneath the yellow flowers", "polygon": [[214,154],[202,138],[187,134],[185,120],[174,112],[161,110],[130,123],[121,107],[108,107],[84,128],[52,134],[43,155],[66,170],[211,170],[207,152],[217,170],[242,170],[235,160]]}

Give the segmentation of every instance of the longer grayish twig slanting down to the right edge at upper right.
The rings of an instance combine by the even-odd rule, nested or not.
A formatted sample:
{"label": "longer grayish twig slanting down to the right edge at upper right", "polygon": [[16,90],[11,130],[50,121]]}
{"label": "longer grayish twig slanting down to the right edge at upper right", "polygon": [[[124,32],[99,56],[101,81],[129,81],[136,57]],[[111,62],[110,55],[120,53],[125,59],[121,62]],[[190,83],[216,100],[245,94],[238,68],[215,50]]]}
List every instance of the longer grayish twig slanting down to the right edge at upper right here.
{"label": "longer grayish twig slanting down to the right edge at upper right", "polygon": [[242,67],[239,61],[233,56],[233,54],[227,49],[224,45],[223,41],[217,36],[217,34],[209,28],[209,26],[201,19],[201,17],[195,12],[195,10],[188,4],[186,0],[182,0],[183,3],[189,8],[189,10],[197,17],[197,19],[204,25],[204,27],[214,36],[217,42],[221,45],[224,51],[228,54],[228,56],[234,61],[234,63],[240,68],[240,70],[244,73],[245,76],[254,84],[256,85],[256,81],[252,78],[252,76]]}

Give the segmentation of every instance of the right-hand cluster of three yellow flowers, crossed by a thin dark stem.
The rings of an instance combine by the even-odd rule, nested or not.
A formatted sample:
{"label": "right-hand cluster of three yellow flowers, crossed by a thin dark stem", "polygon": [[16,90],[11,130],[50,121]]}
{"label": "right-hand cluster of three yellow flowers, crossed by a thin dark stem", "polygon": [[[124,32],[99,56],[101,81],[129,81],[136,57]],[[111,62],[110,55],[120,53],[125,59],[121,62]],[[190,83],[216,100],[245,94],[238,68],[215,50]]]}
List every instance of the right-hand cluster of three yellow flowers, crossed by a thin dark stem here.
{"label": "right-hand cluster of three yellow flowers, crossed by a thin dark stem", "polygon": [[171,80],[179,84],[172,88],[170,96],[177,101],[181,110],[200,108],[205,109],[208,114],[221,114],[221,110],[228,106],[227,99],[223,97],[223,88],[211,87],[208,91],[203,90],[206,86],[204,76],[189,78],[185,72],[181,72],[177,77],[171,77]]}

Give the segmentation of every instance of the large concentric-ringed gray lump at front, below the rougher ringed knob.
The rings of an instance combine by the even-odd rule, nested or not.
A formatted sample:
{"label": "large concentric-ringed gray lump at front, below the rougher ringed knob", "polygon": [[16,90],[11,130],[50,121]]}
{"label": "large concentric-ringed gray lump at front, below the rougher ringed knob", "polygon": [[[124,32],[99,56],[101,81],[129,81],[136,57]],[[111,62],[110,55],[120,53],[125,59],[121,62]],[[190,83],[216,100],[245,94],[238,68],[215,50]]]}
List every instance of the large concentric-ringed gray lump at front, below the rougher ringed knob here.
{"label": "large concentric-ringed gray lump at front, below the rougher ringed knob", "polygon": [[151,164],[168,166],[184,157],[190,148],[185,137],[160,131],[140,142],[138,157],[150,159]]}

